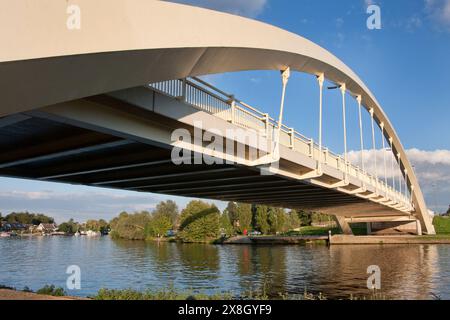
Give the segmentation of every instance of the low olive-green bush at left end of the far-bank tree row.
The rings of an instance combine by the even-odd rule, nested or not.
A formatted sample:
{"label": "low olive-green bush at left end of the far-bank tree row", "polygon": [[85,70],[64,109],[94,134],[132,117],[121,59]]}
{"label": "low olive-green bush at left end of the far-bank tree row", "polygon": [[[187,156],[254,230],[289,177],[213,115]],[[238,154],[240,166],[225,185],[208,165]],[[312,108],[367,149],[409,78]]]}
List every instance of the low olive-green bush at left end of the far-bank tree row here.
{"label": "low olive-green bush at left end of the far-bank tree row", "polygon": [[144,240],[146,238],[145,228],[150,221],[151,215],[147,211],[134,214],[122,212],[110,222],[111,236],[128,240]]}

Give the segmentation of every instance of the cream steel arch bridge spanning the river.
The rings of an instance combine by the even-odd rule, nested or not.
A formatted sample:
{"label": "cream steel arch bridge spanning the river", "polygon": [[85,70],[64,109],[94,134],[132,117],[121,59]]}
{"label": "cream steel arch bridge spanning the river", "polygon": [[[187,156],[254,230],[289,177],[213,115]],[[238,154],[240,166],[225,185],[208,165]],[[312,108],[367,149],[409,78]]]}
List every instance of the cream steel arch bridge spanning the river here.
{"label": "cream steel arch bridge spanning the river", "polygon": [[[1,4],[1,176],[313,210],[336,216],[345,233],[351,222],[389,222],[434,234],[388,117],[318,45],[162,1],[80,0],[75,29],[66,1]],[[281,72],[277,119],[199,78],[243,70]],[[283,124],[291,72],[317,81],[317,141]],[[342,155],[322,141],[327,83],[342,97]],[[349,99],[358,103],[358,164],[347,150]],[[382,141],[382,163],[365,159],[364,130],[374,152]]]}

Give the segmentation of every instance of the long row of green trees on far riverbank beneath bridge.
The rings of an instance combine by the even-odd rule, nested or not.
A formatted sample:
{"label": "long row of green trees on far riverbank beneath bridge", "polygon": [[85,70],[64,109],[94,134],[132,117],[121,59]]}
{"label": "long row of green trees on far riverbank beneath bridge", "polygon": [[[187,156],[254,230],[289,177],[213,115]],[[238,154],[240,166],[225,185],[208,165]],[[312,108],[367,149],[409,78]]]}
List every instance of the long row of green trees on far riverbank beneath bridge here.
{"label": "long row of green trees on far riverbank beneath bridge", "polygon": [[[311,225],[314,214],[304,211],[229,202],[223,212],[214,204],[193,200],[183,210],[174,201],[160,202],[152,212],[122,212],[109,223],[111,236],[131,240],[174,235],[183,242],[211,242],[221,237],[278,234]],[[320,218],[320,217],[319,217]]]}

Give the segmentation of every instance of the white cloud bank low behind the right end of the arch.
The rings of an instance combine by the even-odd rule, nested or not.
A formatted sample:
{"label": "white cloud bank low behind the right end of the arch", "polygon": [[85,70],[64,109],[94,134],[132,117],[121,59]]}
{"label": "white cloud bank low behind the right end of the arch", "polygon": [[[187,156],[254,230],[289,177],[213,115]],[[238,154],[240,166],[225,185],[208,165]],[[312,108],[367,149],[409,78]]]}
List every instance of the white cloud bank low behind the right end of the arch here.
{"label": "white cloud bank low behind the right end of the arch", "polygon": [[[406,151],[408,159],[414,166],[428,206],[436,211],[446,211],[450,204],[450,150],[424,151],[416,148]],[[394,171],[391,170],[392,153],[386,152],[386,172],[388,181],[395,177],[398,184],[400,171],[394,162]],[[360,165],[360,151],[351,151],[349,161]],[[384,152],[383,150],[365,150],[365,169],[375,173],[375,158],[377,161],[378,176],[384,178]]]}

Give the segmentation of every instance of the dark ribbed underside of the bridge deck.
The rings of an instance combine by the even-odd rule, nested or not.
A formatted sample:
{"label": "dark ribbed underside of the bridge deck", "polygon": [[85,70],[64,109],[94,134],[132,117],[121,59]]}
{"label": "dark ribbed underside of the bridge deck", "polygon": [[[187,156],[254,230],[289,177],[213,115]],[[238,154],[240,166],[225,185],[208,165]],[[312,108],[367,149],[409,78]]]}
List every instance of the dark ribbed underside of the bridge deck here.
{"label": "dark ribbed underside of the bridge deck", "polygon": [[[167,120],[155,119],[159,124]],[[336,189],[261,175],[255,167],[175,165],[170,145],[86,127],[45,113],[0,118],[0,175],[345,216],[399,214]]]}

